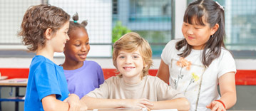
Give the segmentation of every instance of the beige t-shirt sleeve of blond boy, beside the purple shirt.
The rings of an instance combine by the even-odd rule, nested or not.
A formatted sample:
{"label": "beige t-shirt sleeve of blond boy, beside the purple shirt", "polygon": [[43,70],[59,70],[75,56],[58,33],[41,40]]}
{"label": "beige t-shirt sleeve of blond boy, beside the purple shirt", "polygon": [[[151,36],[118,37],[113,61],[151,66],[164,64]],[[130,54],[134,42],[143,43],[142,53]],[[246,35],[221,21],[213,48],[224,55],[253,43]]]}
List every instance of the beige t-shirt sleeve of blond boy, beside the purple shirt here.
{"label": "beige t-shirt sleeve of blond boy, beside the purple shirt", "polygon": [[108,80],[105,80],[105,82],[100,85],[100,88],[94,89],[93,91],[88,93],[87,96],[108,99],[110,89]]}

